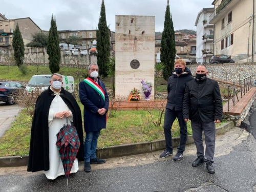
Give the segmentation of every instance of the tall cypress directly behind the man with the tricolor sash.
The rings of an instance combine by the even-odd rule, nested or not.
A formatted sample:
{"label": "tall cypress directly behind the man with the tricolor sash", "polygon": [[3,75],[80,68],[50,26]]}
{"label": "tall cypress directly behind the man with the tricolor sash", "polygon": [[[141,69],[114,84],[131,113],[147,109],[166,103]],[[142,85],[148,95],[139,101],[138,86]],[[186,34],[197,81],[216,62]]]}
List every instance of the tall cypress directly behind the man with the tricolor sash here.
{"label": "tall cypress directly behind the man with the tricolor sash", "polygon": [[99,66],[99,75],[106,77],[108,75],[108,65],[110,61],[110,30],[106,25],[106,13],[104,0],[101,3],[98,29],[96,32],[97,41],[97,64]]}

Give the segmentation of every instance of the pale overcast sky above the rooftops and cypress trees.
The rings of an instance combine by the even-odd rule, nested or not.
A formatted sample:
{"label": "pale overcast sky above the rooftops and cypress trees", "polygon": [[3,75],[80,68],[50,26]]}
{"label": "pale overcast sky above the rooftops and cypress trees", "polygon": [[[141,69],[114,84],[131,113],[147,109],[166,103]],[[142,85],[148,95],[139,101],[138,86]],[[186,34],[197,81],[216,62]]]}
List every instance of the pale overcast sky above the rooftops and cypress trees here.
{"label": "pale overcast sky above the rooftops and cypress trees", "polygon": [[[42,30],[50,29],[54,14],[58,30],[90,30],[98,25],[101,0],[0,0],[0,13],[8,19],[30,17]],[[174,30],[196,30],[202,8],[213,7],[213,0],[169,0]],[[163,31],[167,0],[105,0],[106,22],[115,31],[115,15],[156,17],[156,32]]]}

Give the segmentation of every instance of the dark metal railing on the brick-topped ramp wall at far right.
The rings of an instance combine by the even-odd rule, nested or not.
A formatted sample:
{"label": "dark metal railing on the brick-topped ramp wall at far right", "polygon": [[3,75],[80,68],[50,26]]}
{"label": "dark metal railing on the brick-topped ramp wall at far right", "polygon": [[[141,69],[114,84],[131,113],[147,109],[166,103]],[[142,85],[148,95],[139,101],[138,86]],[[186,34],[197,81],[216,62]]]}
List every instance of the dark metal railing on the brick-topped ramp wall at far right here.
{"label": "dark metal railing on the brick-topped ramp wall at far right", "polygon": [[[232,84],[232,88],[230,89],[230,85],[227,86],[227,92],[228,92],[228,96],[227,96],[227,111],[229,112],[230,109],[230,100],[233,103],[233,106],[239,102],[239,98],[238,98],[238,90],[237,90],[237,86],[235,83]],[[241,93],[241,99],[243,98],[243,96],[245,96],[245,94],[252,88],[252,76],[243,78],[243,80],[240,80],[240,93]],[[236,101],[237,98],[237,101]]]}

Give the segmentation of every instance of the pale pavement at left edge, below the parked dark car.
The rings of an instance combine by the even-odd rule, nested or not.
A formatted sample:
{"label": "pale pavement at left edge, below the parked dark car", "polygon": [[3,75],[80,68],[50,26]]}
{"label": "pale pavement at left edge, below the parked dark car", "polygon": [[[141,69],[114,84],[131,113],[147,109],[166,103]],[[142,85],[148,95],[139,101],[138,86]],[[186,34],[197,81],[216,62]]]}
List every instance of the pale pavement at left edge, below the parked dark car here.
{"label": "pale pavement at left edge, below the parked dark car", "polygon": [[17,104],[6,105],[5,102],[0,101],[0,137],[10,128],[20,109],[22,108]]}

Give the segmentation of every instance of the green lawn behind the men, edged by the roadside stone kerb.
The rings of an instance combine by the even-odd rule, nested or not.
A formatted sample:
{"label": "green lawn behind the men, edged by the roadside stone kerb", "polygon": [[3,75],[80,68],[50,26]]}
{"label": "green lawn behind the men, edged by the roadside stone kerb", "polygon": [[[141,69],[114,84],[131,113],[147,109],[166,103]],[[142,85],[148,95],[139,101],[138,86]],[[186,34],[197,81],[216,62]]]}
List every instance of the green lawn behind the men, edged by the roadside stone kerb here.
{"label": "green lawn behind the men, edged by the roadside stone kerb", "polygon": [[[81,111],[83,113],[82,104]],[[25,115],[23,110],[12,123],[11,128],[0,138],[0,157],[23,156],[29,154],[31,117]],[[157,119],[158,112],[153,111]],[[225,123],[222,122],[221,124]],[[219,126],[217,124],[216,126]],[[187,123],[188,135],[192,134],[190,122]],[[179,123],[174,121],[172,135],[179,136]],[[113,145],[136,143],[143,141],[154,141],[164,139],[163,120],[159,127],[155,127],[147,112],[117,111],[113,118],[109,118],[107,129],[103,129],[98,140],[98,147],[104,148]]]}

